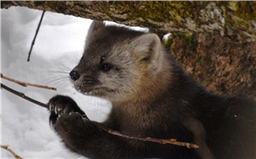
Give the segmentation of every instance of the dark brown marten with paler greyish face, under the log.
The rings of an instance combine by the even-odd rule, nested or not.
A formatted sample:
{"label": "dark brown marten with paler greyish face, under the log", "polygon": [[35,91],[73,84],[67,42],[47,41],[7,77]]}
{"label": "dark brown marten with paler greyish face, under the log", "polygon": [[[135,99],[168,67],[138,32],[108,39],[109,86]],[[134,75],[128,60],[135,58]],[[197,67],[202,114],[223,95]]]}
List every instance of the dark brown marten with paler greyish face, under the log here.
{"label": "dark brown marten with paler greyish face, under the log", "polygon": [[[72,98],[50,99],[50,124],[73,152],[87,158],[256,158],[255,101],[208,92],[178,66],[157,34],[94,20],[69,77],[80,93],[112,102],[108,118],[97,123]],[[199,148],[127,139],[99,125]]]}

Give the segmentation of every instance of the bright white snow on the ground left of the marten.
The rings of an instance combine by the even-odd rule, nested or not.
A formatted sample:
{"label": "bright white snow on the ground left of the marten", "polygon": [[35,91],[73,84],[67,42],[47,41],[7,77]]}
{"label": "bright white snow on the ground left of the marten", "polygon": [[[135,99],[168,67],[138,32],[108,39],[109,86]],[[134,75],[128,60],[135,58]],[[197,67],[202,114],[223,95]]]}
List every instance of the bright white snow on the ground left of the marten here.
{"label": "bright white snow on the ground left of the marten", "polygon": [[[47,103],[56,94],[72,97],[91,120],[102,122],[110,102],[83,96],[69,82],[69,71],[78,63],[91,20],[45,12],[30,62],[27,62],[42,11],[25,7],[1,9],[1,73],[24,82],[48,85],[57,91],[4,85]],[[1,90],[1,144],[23,158],[83,158],[69,152],[48,124],[47,109]],[[1,149],[1,158],[14,158]]]}

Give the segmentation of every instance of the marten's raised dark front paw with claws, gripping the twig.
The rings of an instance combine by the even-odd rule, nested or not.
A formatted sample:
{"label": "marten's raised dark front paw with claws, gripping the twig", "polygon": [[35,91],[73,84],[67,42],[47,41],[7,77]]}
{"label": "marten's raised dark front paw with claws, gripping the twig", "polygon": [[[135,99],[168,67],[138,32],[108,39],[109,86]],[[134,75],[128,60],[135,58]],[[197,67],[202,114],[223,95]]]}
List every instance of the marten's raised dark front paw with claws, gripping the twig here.
{"label": "marten's raised dark front paw with claws, gripping the twig", "polygon": [[86,117],[85,113],[78,107],[78,104],[68,96],[54,96],[48,102],[48,109],[50,110],[50,125],[53,125],[53,127],[61,115],[69,115],[76,112]]}

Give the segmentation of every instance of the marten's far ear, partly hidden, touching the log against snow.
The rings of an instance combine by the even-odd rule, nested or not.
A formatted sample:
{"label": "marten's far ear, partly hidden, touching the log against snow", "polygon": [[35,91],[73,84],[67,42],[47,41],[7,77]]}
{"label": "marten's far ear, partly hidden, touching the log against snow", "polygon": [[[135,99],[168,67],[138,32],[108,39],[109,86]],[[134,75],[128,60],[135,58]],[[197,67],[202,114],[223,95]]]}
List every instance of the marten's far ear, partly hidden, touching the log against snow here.
{"label": "marten's far ear, partly hidden, touching the log against snow", "polygon": [[96,37],[97,34],[100,34],[103,28],[105,28],[105,23],[103,23],[102,21],[94,20],[91,23],[86,37],[86,46],[94,41],[94,37]]}

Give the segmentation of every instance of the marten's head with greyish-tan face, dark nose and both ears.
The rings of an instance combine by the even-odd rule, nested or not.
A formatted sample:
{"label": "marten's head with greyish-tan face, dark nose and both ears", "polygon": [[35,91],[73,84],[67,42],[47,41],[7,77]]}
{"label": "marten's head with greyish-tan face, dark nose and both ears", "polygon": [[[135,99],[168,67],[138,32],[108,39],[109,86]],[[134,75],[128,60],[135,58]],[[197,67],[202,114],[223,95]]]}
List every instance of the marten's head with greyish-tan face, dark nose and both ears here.
{"label": "marten's head with greyish-tan face, dark nose and both ears", "polygon": [[69,75],[80,93],[110,101],[129,98],[158,73],[161,48],[156,34],[94,20],[83,57]]}

